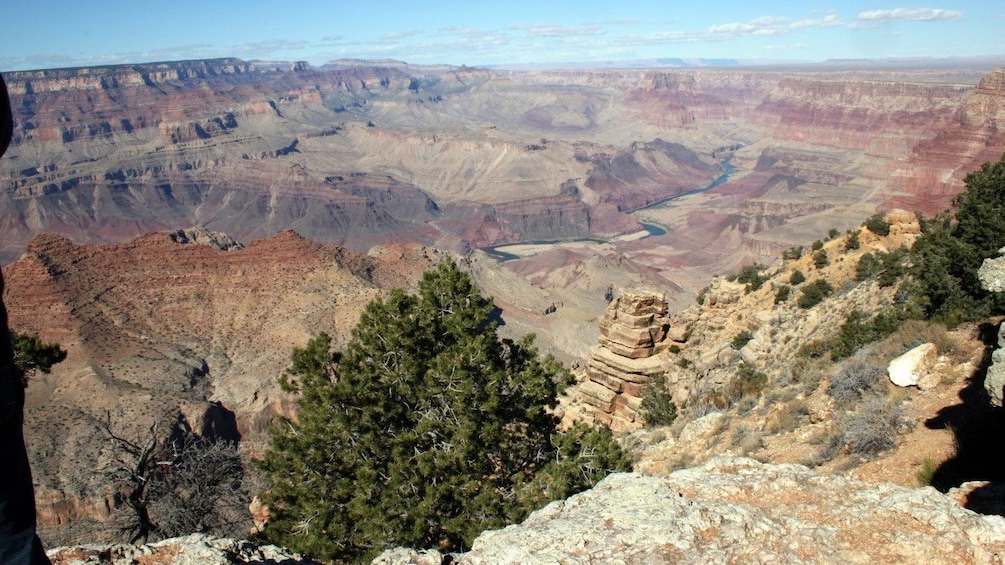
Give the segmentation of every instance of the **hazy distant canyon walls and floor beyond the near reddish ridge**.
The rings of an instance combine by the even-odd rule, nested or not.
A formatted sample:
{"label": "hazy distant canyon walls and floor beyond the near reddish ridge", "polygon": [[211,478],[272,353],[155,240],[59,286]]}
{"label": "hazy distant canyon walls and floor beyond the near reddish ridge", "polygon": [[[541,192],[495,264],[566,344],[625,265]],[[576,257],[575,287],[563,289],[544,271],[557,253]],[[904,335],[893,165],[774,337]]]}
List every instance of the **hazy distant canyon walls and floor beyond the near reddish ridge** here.
{"label": "hazy distant canyon walls and floor beyond the near reddish ridge", "polygon": [[[598,238],[693,295],[876,208],[944,209],[1005,150],[1005,71],[984,64],[493,72],[215,59],[12,72],[0,258],[42,231],[117,242],[194,225],[241,241],[294,229],[358,251]],[[709,184],[726,160],[724,185],[631,214]],[[640,232],[639,218],[667,233],[612,241]],[[533,278],[579,261],[546,252],[510,266]]]}

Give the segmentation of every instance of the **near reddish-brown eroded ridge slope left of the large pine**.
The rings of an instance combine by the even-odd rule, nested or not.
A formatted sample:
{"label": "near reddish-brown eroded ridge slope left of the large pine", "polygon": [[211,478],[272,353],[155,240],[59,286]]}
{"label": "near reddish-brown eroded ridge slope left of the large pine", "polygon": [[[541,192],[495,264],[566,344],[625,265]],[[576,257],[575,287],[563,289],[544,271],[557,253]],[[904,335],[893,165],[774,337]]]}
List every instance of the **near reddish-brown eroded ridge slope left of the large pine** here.
{"label": "near reddish-brown eroded ridge slope left of the large pine", "polygon": [[371,299],[436,260],[416,245],[374,257],[289,231],[242,249],[205,230],[114,245],[36,236],[5,268],[4,302],[13,328],[68,352],[27,390],[40,524],[109,512],[80,464],[105,456],[107,415],[127,437],[184,422],[260,453],[272,416],[291,413],[276,378],[292,349],[322,330],[345,339]]}

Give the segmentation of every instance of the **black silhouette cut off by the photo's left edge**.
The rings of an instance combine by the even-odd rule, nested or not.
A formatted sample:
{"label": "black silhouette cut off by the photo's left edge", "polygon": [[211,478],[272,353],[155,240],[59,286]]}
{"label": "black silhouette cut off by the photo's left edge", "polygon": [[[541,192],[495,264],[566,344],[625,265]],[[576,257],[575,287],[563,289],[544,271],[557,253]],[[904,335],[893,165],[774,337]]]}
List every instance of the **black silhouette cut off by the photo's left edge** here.
{"label": "black silhouette cut off by the photo's left edge", "polygon": [[[14,130],[7,85],[0,76],[0,156]],[[0,272],[0,563],[49,563],[35,534],[35,492],[24,447],[24,386],[14,368],[14,348],[3,305]]]}

